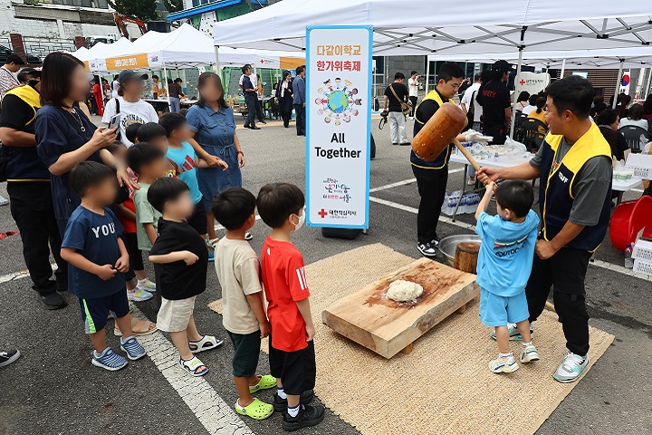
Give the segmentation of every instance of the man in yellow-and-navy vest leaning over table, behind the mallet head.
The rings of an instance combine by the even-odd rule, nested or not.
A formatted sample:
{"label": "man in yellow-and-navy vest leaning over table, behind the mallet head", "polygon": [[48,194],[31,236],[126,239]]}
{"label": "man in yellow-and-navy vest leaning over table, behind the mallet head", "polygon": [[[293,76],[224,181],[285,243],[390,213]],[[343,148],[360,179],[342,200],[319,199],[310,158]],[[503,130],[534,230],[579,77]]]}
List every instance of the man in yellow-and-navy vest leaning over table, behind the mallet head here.
{"label": "man in yellow-and-navy vest leaning over table, behind the mallet head", "polygon": [[[465,73],[457,63],[444,63],[439,68],[436,88],[428,92],[415,111],[415,136],[444,102],[455,104],[451,99],[464,79]],[[457,140],[478,140],[481,137],[480,133],[471,132],[460,134]],[[421,197],[417,215],[417,249],[423,256],[436,256],[436,248],[439,245],[436,227],[446,196],[448,160],[453,148],[451,144],[433,161],[419,159],[414,150],[410,153],[412,172],[417,178],[417,188]]]}

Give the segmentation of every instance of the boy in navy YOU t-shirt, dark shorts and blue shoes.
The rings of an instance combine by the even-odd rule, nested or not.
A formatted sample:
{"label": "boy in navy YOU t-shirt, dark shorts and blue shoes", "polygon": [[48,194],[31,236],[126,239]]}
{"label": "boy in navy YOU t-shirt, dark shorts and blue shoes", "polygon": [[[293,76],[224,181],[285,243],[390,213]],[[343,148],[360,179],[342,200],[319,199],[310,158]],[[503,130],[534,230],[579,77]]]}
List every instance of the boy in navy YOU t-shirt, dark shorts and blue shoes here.
{"label": "boy in navy YOU t-shirt, dark shorts and blue shoes", "polygon": [[129,359],[142,358],[145,349],[131,332],[124,277],[129,255],[120,238],[120,220],[108,208],[116,197],[116,175],[106,165],[84,161],[72,169],[68,181],[82,198],[68,219],[62,242],[61,256],[69,265],[68,288],[80,300],[86,333],[95,348],[92,364],[120,370],[127,360],[107,346],[104,333],[111,312],[123,335],[120,348]]}

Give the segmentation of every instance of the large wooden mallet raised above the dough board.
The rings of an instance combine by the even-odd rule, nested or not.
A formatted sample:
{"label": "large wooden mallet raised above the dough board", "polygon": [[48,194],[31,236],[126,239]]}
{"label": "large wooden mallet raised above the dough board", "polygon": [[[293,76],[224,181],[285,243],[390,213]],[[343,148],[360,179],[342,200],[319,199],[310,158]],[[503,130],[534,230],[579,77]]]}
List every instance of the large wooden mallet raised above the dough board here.
{"label": "large wooden mallet raised above the dough board", "polygon": [[475,170],[479,170],[480,165],[457,140],[457,135],[466,127],[467,122],[466,114],[459,106],[445,102],[414,137],[412,150],[419,159],[433,161],[452,142]]}

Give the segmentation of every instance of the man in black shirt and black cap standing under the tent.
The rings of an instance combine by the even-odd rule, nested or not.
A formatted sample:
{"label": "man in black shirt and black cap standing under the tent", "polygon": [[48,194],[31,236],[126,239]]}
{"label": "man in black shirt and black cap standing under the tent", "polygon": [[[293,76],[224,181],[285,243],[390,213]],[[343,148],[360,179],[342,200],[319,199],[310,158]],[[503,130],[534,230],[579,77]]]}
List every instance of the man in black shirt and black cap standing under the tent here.
{"label": "man in black shirt and black cap standing under the tent", "polygon": [[509,78],[512,66],[506,61],[497,61],[492,66],[492,80],[484,84],[475,97],[483,106],[483,133],[493,136],[494,144],[503,144],[512,123],[510,92],[504,82]]}

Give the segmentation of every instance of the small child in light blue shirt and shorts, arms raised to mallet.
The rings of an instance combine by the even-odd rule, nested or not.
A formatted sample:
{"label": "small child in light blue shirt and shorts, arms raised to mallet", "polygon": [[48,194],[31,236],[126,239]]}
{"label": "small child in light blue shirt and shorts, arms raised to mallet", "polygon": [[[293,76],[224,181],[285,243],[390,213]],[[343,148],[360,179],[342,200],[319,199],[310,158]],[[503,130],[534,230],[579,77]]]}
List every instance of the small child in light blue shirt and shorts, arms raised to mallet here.
{"label": "small child in light blue shirt and shorts, arms raised to mallet", "polygon": [[[495,194],[497,216],[486,213]],[[521,362],[539,360],[532,344],[525,285],[532,271],[539,217],[532,211],[534,192],[525,181],[493,182],[475,212],[475,232],[482,237],[477,263],[480,285],[480,321],[495,327],[498,358],[489,362],[494,373],[510,373],[519,365],[510,352],[508,323],[516,324],[523,337]]]}

